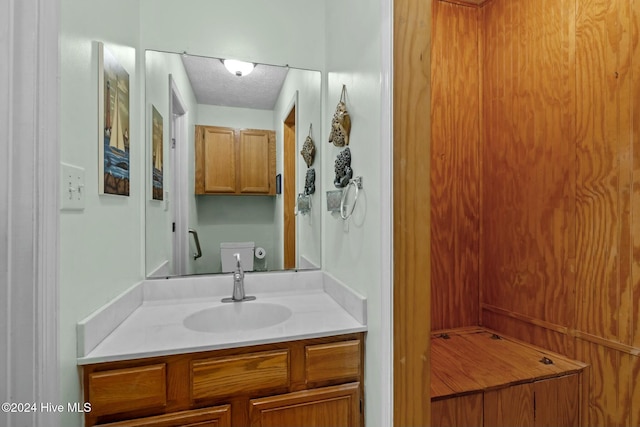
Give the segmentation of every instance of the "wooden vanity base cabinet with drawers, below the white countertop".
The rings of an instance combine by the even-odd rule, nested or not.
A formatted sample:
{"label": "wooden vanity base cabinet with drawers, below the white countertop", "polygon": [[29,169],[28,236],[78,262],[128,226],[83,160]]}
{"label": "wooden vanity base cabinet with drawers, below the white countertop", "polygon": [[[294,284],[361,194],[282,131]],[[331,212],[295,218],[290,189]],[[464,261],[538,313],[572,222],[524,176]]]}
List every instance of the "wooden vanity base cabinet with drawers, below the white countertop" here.
{"label": "wooden vanity base cabinet with drawers, below the white countertop", "polygon": [[85,424],[360,426],[363,347],[357,333],[86,365]]}

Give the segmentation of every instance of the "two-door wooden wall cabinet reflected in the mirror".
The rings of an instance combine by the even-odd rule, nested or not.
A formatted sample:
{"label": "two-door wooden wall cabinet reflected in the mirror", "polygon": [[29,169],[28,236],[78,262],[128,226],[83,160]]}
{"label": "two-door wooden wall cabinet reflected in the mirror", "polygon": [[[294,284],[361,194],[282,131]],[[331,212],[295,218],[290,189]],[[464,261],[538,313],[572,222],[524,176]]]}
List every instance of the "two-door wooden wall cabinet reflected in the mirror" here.
{"label": "two-door wooden wall cabinet reflected in the mirror", "polygon": [[196,194],[276,193],[275,132],[196,126]]}

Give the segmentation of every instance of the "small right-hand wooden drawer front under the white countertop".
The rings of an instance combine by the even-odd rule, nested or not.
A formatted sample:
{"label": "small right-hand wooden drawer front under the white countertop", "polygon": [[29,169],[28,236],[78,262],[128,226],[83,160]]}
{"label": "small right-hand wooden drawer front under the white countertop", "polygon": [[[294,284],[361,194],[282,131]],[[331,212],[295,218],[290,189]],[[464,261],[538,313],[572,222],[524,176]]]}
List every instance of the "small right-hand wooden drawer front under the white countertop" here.
{"label": "small right-hand wooden drawer front under the white countertop", "polygon": [[307,383],[356,379],[360,375],[360,340],[305,347]]}

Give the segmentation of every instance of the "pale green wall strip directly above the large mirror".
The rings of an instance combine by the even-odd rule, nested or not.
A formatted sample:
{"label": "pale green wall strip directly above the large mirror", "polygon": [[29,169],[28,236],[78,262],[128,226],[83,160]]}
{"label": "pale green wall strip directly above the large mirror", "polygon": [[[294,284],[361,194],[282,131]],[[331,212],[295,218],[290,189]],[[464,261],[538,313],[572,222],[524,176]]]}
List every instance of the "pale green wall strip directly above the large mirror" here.
{"label": "pale green wall strip directly above the large mirror", "polygon": [[140,0],[140,6],[145,49],[324,67],[321,1]]}

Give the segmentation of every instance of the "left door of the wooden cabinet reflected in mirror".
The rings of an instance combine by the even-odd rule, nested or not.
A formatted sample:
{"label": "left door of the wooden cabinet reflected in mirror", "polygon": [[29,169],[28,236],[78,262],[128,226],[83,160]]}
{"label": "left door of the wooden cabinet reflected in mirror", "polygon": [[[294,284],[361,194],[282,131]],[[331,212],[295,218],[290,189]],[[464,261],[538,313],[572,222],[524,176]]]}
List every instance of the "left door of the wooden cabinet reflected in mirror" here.
{"label": "left door of the wooden cabinet reflected in mirror", "polygon": [[196,194],[236,192],[235,140],[233,129],[197,127]]}

